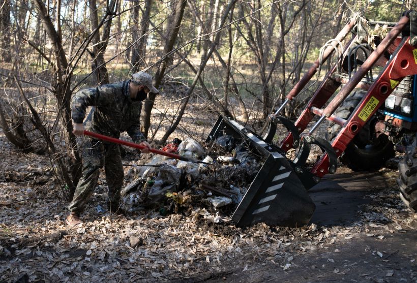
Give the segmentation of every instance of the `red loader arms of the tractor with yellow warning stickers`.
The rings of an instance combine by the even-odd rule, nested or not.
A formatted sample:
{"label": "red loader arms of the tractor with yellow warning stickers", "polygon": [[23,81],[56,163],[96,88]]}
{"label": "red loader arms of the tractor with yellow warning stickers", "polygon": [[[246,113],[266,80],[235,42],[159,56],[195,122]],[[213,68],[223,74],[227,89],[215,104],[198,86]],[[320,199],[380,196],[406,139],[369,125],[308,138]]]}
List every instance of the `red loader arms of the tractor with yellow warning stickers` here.
{"label": "red loader arms of the tractor with yellow warning stickers", "polygon": [[[397,24],[391,29],[390,33],[380,42],[377,48],[370,54],[365,60],[363,65],[355,72],[355,74],[347,81],[347,83],[338,92],[337,96],[327,105],[324,109],[321,109],[325,103],[331,98],[333,93],[342,84],[343,79],[336,76],[332,76],[336,71],[336,66],[333,67],[331,72],[326,75],[320,86],[315,91],[313,97],[309,101],[307,107],[302,112],[301,116],[296,120],[295,127],[303,132],[307,125],[312,121],[314,115],[320,116],[319,122],[324,118],[331,120],[343,126],[342,130],[332,143],[332,147],[335,149],[337,156],[340,156],[346,149],[346,146],[351,142],[353,137],[361,131],[370,117],[377,111],[377,109],[384,103],[385,99],[393,92],[399,82],[408,75],[417,74],[417,48],[410,45],[410,37],[399,37],[406,26],[409,24],[408,11],[406,16],[403,16]],[[355,21],[350,21],[342,32],[338,35],[337,40],[341,40],[346,36],[346,30],[350,30]],[[343,56],[339,58],[342,60],[349,48],[356,38],[351,40],[344,49]],[[328,50],[329,47],[326,49]],[[328,58],[333,50],[324,53],[324,60]],[[385,52],[392,54],[388,60],[382,56]],[[304,77],[297,83],[294,88],[288,93],[287,101],[292,100],[301,89],[307,84],[317,70],[317,63],[315,62],[312,68],[304,75]],[[386,63],[386,64],[385,64]],[[372,85],[361,82],[367,72],[376,65],[383,66],[382,72]],[[333,112],[340,106],[349,93],[355,88],[362,86],[368,89],[366,96],[362,100],[359,107],[355,109],[352,116],[348,121],[336,117]],[[280,148],[286,152],[292,148],[293,136],[291,133],[283,139],[280,144]],[[320,160],[314,165],[312,171],[314,175],[322,177],[329,173],[329,156],[324,153]]]}

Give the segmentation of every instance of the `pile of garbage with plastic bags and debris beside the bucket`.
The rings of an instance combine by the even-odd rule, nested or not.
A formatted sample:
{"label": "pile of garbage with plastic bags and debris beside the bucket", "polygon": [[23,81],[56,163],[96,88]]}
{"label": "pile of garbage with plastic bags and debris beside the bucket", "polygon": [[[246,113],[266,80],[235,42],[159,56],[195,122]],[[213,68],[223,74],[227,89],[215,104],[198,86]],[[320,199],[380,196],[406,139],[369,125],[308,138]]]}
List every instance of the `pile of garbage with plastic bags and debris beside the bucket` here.
{"label": "pile of garbage with plastic bags and debris beside the bucket", "polygon": [[191,138],[174,139],[163,150],[205,164],[155,154],[150,162],[133,165],[128,172],[133,181],[122,190],[128,209],[156,207],[161,214],[168,214],[202,206],[232,212],[259,171],[262,156],[231,136],[204,147]]}

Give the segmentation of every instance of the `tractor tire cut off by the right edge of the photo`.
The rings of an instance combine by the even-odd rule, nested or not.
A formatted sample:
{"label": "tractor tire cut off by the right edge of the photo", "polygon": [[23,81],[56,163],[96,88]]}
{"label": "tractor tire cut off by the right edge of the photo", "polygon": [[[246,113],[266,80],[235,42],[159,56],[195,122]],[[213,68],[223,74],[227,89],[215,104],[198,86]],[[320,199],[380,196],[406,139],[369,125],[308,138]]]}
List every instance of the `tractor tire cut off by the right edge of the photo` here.
{"label": "tractor tire cut off by the right edge of the photo", "polygon": [[400,198],[409,209],[417,212],[417,158],[406,154],[398,163],[398,172]]}

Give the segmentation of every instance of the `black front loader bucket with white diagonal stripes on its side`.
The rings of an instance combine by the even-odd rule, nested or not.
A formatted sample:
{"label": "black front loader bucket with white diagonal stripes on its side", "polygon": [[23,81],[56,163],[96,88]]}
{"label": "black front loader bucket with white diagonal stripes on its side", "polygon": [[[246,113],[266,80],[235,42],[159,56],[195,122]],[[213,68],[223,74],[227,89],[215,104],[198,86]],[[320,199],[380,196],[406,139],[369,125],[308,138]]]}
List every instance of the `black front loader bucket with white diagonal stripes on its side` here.
{"label": "black front loader bucket with white diagonal stripes on its side", "polygon": [[315,210],[307,193],[316,184],[313,174],[288,160],[276,145],[264,142],[236,121],[220,116],[206,141],[214,141],[223,135],[246,142],[266,158],[233,213],[232,220],[236,225],[242,227],[259,222],[270,226],[307,225]]}

